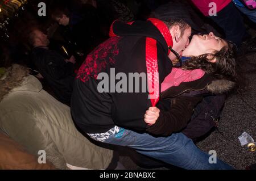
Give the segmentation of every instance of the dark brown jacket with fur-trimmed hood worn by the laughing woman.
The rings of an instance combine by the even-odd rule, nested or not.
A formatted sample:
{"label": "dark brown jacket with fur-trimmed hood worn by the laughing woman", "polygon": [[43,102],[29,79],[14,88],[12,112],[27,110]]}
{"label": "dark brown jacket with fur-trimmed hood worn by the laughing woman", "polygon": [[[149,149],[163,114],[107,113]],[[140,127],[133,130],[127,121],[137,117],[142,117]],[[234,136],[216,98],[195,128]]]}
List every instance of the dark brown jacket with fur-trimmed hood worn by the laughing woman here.
{"label": "dark brown jacket with fur-trimmed hood worn by the laughing woman", "polygon": [[[185,128],[191,119],[197,103],[206,95],[218,95],[228,92],[234,83],[225,79],[214,79],[209,74],[191,82],[182,82],[161,93],[157,107],[160,116],[147,131],[161,136],[168,136]],[[222,103],[221,103],[222,104]]]}

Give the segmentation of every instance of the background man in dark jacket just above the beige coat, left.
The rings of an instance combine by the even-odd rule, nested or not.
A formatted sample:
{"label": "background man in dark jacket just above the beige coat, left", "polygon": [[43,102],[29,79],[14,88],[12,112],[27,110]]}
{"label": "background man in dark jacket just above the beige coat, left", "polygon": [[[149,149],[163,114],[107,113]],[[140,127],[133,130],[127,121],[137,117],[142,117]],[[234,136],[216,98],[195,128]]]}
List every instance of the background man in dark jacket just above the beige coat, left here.
{"label": "background man in dark jacket just above the beige coat, left", "polygon": [[28,36],[33,47],[32,62],[46,79],[56,98],[69,105],[75,77],[73,69],[73,64],[76,62],[75,57],[72,56],[69,60],[65,60],[59,53],[50,50],[47,35],[40,30],[32,30]]}

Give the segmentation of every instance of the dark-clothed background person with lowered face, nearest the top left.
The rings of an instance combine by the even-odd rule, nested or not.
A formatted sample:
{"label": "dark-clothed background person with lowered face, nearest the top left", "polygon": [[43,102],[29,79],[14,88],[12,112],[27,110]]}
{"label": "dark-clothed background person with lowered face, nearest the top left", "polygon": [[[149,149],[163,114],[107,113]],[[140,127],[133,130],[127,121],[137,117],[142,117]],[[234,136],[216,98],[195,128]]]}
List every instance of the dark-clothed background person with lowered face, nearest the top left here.
{"label": "dark-clothed background person with lowered face, nearest the top left", "polygon": [[64,26],[64,39],[77,51],[88,54],[106,38],[101,33],[100,19],[91,5],[83,7],[83,14],[67,8],[57,8],[52,12],[52,19]]}

